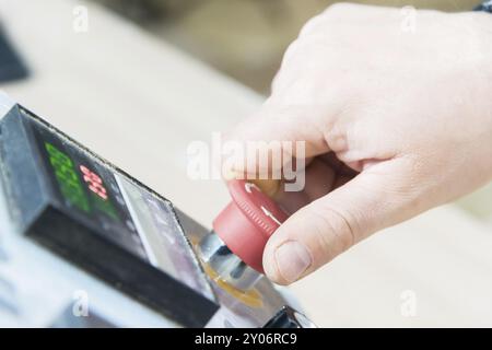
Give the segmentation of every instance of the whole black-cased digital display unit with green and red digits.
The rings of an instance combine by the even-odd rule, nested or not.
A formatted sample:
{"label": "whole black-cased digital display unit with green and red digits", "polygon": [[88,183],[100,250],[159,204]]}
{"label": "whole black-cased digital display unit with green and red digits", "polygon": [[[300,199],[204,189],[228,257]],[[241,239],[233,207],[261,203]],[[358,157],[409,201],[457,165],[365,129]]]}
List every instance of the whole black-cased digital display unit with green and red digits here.
{"label": "whole black-cased digital display unit with green and red digits", "polygon": [[186,325],[211,317],[215,294],[168,200],[21,106],[0,128],[24,234]]}

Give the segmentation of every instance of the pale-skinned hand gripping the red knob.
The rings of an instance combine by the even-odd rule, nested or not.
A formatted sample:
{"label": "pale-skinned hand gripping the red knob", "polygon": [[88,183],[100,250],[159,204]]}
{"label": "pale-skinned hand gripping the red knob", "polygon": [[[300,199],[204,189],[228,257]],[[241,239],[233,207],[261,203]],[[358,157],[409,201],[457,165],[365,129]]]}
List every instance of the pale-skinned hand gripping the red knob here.
{"label": "pale-skinned hand gripping the red knob", "polygon": [[414,15],[412,32],[400,9],[330,7],[289,47],[260,110],[227,135],[306,141],[304,190],[276,194],[292,215],[263,253],[272,281],[492,179],[492,15]]}

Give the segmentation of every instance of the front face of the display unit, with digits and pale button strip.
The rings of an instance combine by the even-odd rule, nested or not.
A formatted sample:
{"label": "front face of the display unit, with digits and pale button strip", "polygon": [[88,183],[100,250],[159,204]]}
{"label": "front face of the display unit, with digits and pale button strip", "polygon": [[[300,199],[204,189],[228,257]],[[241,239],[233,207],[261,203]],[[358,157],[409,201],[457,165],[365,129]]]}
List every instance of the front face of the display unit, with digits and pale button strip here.
{"label": "front face of the display unit, with digits and pale button strip", "polygon": [[59,206],[106,240],[214,299],[171,202],[44,124],[31,119],[30,125],[43,163],[39,175],[47,175]]}

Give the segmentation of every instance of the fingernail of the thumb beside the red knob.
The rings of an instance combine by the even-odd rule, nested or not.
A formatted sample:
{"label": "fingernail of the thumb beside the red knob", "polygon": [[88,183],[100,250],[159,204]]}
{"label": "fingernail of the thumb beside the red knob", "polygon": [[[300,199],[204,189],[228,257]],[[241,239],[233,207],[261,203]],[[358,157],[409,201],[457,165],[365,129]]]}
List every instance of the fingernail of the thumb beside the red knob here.
{"label": "fingernail of the thumb beside the red knob", "polygon": [[309,268],[312,258],[303,244],[288,241],[276,249],[276,261],[282,278],[292,283]]}

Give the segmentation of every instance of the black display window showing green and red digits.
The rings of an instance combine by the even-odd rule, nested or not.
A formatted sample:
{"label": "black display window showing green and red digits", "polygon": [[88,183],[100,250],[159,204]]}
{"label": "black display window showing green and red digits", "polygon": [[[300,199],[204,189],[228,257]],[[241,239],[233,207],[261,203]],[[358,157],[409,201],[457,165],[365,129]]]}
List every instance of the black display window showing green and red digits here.
{"label": "black display window showing green and red digits", "polygon": [[149,260],[112,170],[42,124],[31,120],[31,126],[58,202],[105,238]]}

